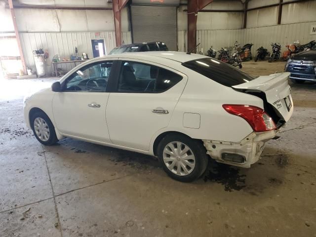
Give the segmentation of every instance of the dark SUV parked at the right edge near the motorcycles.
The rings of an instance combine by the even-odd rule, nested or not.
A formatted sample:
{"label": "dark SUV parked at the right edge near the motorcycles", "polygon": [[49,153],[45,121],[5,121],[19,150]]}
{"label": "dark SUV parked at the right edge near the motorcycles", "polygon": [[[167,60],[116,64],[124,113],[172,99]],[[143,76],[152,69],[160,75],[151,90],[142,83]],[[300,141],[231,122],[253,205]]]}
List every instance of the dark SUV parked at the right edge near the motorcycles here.
{"label": "dark SUV parked at the right edge near the motorcycles", "polygon": [[306,80],[316,82],[316,50],[295,54],[287,61],[284,71],[291,73],[289,78],[293,82],[303,83]]}

